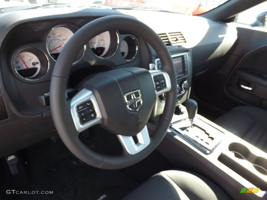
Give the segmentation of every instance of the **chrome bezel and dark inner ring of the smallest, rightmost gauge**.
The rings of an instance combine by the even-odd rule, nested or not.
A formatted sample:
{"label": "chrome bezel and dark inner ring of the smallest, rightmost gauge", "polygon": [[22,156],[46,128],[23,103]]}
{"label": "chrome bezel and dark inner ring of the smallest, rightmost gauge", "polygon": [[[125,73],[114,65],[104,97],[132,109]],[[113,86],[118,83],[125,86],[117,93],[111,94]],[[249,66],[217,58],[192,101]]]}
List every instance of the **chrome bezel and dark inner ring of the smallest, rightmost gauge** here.
{"label": "chrome bezel and dark inner ring of the smallest, rightmost gauge", "polygon": [[[121,56],[126,61],[132,61],[133,59],[135,59],[137,57],[138,52],[139,52],[138,40],[133,35],[127,35],[122,39],[122,41],[125,41],[127,43],[129,52],[128,52],[126,57],[124,57],[123,55],[121,55]],[[121,47],[122,41],[120,42],[120,47]]]}

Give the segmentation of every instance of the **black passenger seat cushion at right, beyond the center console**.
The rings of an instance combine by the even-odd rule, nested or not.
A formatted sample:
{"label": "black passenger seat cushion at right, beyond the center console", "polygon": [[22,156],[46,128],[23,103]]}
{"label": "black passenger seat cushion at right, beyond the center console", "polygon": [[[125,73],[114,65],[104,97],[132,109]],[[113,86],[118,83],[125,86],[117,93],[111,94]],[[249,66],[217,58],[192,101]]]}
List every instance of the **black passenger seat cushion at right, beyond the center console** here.
{"label": "black passenger seat cushion at right, beyond the center console", "polygon": [[238,106],[214,121],[267,153],[267,111],[253,106]]}

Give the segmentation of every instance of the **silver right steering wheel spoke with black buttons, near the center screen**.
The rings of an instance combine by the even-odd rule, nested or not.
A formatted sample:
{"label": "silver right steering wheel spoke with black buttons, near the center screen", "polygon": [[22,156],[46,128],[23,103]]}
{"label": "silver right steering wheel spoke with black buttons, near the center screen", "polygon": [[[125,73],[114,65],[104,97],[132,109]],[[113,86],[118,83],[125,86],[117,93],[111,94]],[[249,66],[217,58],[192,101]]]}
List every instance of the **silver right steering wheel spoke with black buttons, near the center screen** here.
{"label": "silver right steering wheel spoke with black buttons, near the center screen", "polygon": [[169,75],[162,70],[149,70],[155,85],[156,96],[171,90],[171,80]]}

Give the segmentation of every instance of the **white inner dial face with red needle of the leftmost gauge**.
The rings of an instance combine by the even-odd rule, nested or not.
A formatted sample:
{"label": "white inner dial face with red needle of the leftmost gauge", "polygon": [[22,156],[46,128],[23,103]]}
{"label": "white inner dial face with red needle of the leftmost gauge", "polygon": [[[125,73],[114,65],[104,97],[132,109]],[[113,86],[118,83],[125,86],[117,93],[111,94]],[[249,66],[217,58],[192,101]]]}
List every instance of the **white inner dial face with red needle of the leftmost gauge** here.
{"label": "white inner dial face with red needle of the leftmost gauge", "polygon": [[30,79],[39,73],[41,65],[33,53],[21,52],[15,56],[14,67],[21,77]]}

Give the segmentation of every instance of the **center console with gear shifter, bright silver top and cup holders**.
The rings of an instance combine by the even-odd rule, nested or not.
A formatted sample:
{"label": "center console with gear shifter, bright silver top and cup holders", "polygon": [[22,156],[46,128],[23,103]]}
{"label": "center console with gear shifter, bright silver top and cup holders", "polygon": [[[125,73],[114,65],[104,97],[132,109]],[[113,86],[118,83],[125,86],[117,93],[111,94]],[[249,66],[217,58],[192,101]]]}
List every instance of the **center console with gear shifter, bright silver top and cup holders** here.
{"label": "center console with gear shifter, bright silver top and cup holders", "polygon": [[267,199],[267,154],[196,114],[192,103],[185,105],[187,112],[173,116],[158,150],[180,169],[209,178],[233,199]]}

